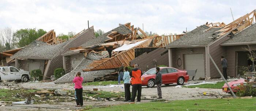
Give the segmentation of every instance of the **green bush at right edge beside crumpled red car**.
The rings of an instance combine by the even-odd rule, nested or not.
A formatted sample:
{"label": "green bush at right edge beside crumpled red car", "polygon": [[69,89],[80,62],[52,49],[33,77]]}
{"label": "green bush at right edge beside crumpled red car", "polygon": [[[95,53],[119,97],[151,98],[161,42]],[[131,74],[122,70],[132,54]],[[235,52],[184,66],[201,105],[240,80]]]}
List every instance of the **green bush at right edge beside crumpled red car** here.
{"label": "green bush at right edge beside crumpled red car", "polygon": [[256,96],[256,85],[253,83],[238,86],[238,89],[237,96]]}

